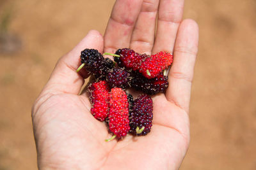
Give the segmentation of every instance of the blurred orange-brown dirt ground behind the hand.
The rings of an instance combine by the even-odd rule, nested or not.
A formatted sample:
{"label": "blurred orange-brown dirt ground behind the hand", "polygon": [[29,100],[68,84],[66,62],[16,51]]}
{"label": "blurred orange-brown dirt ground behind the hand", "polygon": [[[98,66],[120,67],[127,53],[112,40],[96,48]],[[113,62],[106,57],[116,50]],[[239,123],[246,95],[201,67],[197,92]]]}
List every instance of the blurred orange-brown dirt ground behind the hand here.
{"label": "blurred orange-brown dirt ground behind the hand", "polygon": [[[0,0],[0,169],[36,169],[31,105],[113,0]],[[256,169],[256,1],[186,1],[200,27],[191,145],[180,169]]]}

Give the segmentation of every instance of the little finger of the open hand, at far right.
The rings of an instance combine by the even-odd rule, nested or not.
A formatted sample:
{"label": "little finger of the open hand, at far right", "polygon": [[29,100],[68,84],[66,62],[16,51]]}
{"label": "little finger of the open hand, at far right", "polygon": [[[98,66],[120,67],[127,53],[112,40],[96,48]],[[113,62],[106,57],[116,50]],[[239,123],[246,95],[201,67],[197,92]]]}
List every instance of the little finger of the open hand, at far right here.
{"label": "little finger of the open hand, at far right", "polygon": [[184,20],[177,34],[166,98],[187,112],[197,51],[198,25],[194,20]]}

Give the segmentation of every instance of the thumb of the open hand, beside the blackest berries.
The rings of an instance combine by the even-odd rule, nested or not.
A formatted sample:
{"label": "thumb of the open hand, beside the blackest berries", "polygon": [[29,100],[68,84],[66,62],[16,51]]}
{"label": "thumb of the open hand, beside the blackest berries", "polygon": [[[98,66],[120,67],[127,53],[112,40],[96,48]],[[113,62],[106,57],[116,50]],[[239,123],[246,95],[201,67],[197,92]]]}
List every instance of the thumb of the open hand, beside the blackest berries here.
{"label": "thumb of the open hand, beside the blackest berries", "polygon": [[[90,31],[86,37],[70,52],[60,58],[52,71],[43,92],[79,94],[86,73],[77,73],[81,65],[80,53],[84,48],[95,48],[102,52],[103,38],[98,31]],[[85,77],[84,77],[85,76]]]}

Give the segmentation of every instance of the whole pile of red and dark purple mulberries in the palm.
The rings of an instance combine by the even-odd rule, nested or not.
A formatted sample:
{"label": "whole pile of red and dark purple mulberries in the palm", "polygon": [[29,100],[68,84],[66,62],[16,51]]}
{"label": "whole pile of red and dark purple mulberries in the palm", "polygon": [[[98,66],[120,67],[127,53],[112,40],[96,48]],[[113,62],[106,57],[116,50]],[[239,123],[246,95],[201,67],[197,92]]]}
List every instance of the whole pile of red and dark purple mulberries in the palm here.
{"label": "whole pile of red and dark purple mulberries in the palm", "polygon": [[[99,121],[107,121],[113,138],[122,138],[128,132],[136,136],[150,132],[153,119],[153,103],[148,95],[164,92],[168,87],[166,69],[172,64],[171,53],[155,55],[139,54],[129,48],[113,53],[113,60],[104,58],[94,49],[81,52],[81,66],[95,76],[88,87],[92,103],[92,115]],[[143,92],[133,100],[126,89]]]}

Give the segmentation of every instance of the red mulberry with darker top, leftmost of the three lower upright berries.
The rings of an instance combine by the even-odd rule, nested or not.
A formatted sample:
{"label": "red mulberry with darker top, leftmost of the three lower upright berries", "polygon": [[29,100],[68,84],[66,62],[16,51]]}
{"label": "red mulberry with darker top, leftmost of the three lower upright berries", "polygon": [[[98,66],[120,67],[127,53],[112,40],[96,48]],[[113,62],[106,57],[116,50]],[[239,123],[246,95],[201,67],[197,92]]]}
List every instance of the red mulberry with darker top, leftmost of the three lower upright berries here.
{"label": "red mulberry with darker top, leftmost of the three lower upright berries", "polygon": [[109,87],[106,81],[92,83],[88,87],[90,101],[92,103],[91,113],[97,120],[104,121],[109,113]]}

